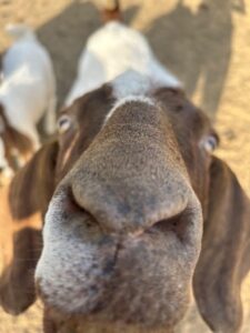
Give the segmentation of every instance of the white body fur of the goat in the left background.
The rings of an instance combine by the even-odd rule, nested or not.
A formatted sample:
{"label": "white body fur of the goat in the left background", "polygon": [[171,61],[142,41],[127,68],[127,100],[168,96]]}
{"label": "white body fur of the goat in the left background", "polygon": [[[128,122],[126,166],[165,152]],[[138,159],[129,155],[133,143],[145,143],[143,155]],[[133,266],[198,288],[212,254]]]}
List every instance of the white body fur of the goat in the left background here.
{"label": "white body fur of the goat in the left background", "polygon": [[47,50],[26,26],[9,26],[18,38],[2,60],[0,103],[8,122],[39,147],[36,124],[46,115],[46,131],[52,133],[56,122],[56,82]]}

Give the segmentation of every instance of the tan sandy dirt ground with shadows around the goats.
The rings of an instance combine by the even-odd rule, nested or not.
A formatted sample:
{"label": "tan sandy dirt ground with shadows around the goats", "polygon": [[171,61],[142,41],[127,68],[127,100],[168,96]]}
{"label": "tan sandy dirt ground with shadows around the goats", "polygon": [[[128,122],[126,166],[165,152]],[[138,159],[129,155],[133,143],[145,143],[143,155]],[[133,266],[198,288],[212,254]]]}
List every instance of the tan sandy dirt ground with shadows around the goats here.
{"label": "tan sandy dirt ground with shadows around the goats", "polygon": [[[214,122],[217,154],[250,195],[250,0],[123,0],[126,22],[143,31],[158,58],[184,83]],[[8,22],[33,27],[54,62],[60,104],[88,36],[100,26],[86,1],[0,0],[0,52]],[[243,333],[250,332],[250,275],[242,289]],[[41,305],[12,317],[0,311],[0,333],[41,332]],[[178,333],[208,333],[194,305]]]}

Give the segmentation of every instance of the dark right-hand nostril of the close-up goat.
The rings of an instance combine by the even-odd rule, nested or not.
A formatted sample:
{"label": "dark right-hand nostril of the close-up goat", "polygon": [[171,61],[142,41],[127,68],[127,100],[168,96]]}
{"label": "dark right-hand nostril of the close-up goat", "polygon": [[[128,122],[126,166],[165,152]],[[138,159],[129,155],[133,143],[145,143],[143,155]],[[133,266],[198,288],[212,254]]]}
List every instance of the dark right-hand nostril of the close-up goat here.
{"label": "dark right-hand nostril of the close-up goat", "polygon": [[183,241],[187,235],[189,224],[190,212],[189,209],[186,208],[184,211],[176,214],[174,216],[156,222],[149,231],[160,231],[163,233],[173,232],[181,241]]}

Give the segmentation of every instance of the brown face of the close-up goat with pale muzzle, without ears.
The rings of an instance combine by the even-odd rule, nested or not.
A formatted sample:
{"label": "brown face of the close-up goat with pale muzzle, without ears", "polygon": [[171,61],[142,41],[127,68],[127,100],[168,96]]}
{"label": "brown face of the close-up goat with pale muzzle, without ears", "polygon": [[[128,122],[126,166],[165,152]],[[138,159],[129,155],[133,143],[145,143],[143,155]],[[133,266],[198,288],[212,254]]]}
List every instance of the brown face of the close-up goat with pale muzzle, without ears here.
{"label": "brown face of the close-up goat with pale muzzle, without ears", "polygon": [[71,315],[173,326],[201,248],[213,135],[182,92],[86,94],[59,120],[58,186],[36,279]]}

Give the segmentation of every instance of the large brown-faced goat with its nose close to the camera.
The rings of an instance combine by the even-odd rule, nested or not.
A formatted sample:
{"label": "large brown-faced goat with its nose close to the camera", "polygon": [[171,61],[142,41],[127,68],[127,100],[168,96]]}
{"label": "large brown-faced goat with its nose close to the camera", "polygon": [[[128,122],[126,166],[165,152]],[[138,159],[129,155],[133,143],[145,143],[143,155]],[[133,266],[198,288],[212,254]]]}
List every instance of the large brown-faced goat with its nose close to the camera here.
{"label": "large brown-faced goat with its nose close to the camera", "polygon": [[[112,22],[94,34],[98,46],[110,29],[119,32],[113,49],[121,48],[122,31],[139,37],[131,44],[124,39],[124,52],[146,43]],[[146,72],[130,59],[131,68],[111,81],[100,82],[97,73],[96,85],[83,84],[90,91],[61,112],[56,141],[10,184],[4,211],[16,234],[0,303],[16,314],[32,304],[28,271],[39,256],[34,280],[46,333],[172,332],[189,307],[191,286],[213,332],[240,330],[250,202],[212,154],[218,135],[209,119],[160,64],[151,70],[152,59]],[[123,71],[120,60],[112,58]],[[107,57],[99,61],[110,65]],[[38,212],[46,214],[41,255],[33,254],[39,233],[22,233],[27,225],[30,233],[39,229],[32,224]],[[21,260],[27,253],[32,268]]]}

